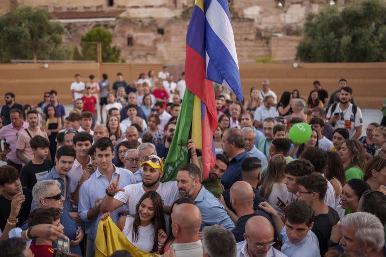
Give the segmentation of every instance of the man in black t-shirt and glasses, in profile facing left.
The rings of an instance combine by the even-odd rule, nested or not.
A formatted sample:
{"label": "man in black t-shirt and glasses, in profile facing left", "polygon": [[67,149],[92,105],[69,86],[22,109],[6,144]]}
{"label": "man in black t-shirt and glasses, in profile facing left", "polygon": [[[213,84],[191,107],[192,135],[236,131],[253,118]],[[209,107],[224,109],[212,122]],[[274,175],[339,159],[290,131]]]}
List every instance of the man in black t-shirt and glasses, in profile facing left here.
{"label": "man in black t-shirt and glasses, in profile facing left", "polygon": [[319,240],[321,256],[328,250],[332,226],[339,222],[339,215],[333,208],[324,203],[327,192],[327,179],[319,174],[309,174],[297,179],[299,186],[298,200],[305,200],[314,211],[314,226],[312,232]]}

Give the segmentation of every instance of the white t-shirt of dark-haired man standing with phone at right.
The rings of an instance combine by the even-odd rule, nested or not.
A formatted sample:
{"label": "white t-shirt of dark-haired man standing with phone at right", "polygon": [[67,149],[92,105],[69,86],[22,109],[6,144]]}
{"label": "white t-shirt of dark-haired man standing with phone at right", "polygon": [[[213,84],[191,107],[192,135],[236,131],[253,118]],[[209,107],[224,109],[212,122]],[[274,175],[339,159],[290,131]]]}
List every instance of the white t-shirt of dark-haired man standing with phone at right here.
{"label": "white t-shirt of dark-haired man standing with phone at right", "polygon": [[[338,129],[338,127],[343,127],[344,129],[348,130],[351,138],[355,134],[355,127],[363,125],[362,112],[360,111],[359,107],[357,107],[354,118],[354,113],[352,113],[352,103],[350,103],[348,108],[344,111],[340,109],[339,105],[340,103],[336,105],[334,113],[339,112],[341,119],[335,122],[334,129]],[[331,110],[332,108],[330,107],[327,113],[327,119],[330,119],[331,116],[334,115],[334,113],[331,113]]]}

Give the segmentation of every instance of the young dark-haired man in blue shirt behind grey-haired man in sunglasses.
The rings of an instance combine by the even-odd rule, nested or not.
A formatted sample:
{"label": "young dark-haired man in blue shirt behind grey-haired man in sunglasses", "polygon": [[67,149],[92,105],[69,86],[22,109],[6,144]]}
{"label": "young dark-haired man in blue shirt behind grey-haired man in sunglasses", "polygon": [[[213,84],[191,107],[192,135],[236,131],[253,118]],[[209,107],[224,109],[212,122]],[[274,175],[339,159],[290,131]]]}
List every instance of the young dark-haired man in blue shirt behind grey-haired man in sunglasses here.
{"label": "young dark-haired man in blue shirt behind grey-haired man in sunglasses", "polygon": [[[75,160],[75,150],[69,146],[62,146],[56,151],[55,163],[56,165],[50,170],[49,173],[44,175],[41,179],[54,179],[60,183],[60,191],[62,196],[64,197],[64,210],[68,211],[70,216],[75,220],[75,222],[79,221],[79,214],[76,212],[72,212],[71,202],[70,202],[70,194],[71,194],[71,178],[68,176],[72,165]],[[31,208],[32,210],[34,208]]]}

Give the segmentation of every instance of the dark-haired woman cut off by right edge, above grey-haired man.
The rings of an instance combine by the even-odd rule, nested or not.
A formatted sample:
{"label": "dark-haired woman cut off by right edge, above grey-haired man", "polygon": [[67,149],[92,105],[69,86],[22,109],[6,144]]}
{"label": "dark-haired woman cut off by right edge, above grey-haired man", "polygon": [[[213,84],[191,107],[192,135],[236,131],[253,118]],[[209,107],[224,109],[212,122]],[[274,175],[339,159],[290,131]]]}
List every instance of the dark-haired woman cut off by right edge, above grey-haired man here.
{"label": "dark-haired woman cut off by right edge, above grey-haired man", "polygon": [[363,180],[371,190],[386,194],[386,158],[379,155],[371,158],[364,169]]}

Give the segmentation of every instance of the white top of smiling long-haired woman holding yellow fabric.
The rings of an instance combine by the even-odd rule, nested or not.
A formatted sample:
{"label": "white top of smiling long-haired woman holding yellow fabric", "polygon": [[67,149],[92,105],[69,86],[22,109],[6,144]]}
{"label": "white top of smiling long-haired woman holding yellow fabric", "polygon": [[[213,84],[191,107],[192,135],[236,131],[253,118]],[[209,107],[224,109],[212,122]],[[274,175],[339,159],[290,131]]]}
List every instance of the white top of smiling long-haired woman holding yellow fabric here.
{"label": "white top of smiling long-haired woman holding yellow fabric", "polygon": [[154,225],[150,222],[150,224],[146,227],[140,226],[138,229],[138,238],[135,242],[133,240],[133,222],[134,217],[130,215],[126,216],[126,222],[122,232],[126,235],[126,238],[137,248],[140,248],[146,252],[151,252],[154,244]]}

